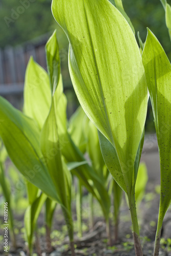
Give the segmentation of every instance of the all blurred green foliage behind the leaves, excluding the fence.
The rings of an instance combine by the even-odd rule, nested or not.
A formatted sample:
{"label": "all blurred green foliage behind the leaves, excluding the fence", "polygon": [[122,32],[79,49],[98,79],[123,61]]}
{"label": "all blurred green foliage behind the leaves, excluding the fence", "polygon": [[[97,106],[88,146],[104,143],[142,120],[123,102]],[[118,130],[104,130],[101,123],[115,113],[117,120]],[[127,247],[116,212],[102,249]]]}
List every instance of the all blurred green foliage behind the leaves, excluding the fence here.
{"label": "all blurred green foliage behind the leaves, excluding the fence", "polygon": [[[67,68],[68,41],[55,22],[51,12],[51,2],[52,0],[0,0],[0,48],[22,44],[57,29],[64,88],[69,88],[65,93],[68,98],[68,116],[70,116],[76,110],[78,100],[74,91],[70,90],[72,87]],[[114,4],[114,0],[110,2]],[[171,4],[171,0],[167,2]],[[142,41],[145,41],[146,27],[149,27],[171,60],[171,44],[160,0],[123,0],[123,5],[135,28],[136,38],[139,31]],[[154,132],[151,106],[147,120],[146,131]]]}

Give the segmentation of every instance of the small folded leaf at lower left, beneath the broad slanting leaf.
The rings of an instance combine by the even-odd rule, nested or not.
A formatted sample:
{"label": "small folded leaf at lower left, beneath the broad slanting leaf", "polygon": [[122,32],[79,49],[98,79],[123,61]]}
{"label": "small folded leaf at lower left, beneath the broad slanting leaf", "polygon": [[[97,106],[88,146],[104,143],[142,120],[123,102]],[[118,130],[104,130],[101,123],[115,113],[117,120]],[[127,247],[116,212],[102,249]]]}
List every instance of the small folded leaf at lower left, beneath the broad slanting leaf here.
{"label": "small folded leaf at lower left, beneath the broad slanting leaf", "polygon": [[29,244],[30,254],[32,254],[33,232],[46,198],[47,196],[45,194],[41,194],[32,204],[28,206],[25,212],[25,234]]}

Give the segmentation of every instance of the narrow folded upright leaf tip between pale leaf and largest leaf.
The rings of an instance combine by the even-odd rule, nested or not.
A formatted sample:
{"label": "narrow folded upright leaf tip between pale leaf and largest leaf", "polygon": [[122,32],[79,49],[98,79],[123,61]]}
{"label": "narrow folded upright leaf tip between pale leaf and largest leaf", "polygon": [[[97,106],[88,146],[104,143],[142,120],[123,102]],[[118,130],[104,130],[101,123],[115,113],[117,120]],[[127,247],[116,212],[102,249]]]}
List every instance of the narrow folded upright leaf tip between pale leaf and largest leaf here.
{"label": "narrow folded upright leaf tip between pale leaf and largest leaf", "polygon": [[56,30],[53,35],[48,39],[45,45],[47,72],[50,77],[52,95],[55,94],[56,88],[60,79],[60,56],[59,46],[56,38]]}

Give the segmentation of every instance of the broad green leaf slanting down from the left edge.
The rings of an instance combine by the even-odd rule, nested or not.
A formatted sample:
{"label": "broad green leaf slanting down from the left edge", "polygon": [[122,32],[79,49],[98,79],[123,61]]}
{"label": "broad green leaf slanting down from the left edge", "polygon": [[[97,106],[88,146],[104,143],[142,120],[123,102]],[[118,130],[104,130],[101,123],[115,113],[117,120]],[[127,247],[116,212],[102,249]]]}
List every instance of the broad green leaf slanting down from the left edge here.
{"label": "broad green leaf slanting down from the left edge", "polygon": [[4,120],[0,126],[0,136],[17,169],[45,194],[58,200],[52,179],[41,161],[40,134],[35,122],[2,97],[0,116]]}

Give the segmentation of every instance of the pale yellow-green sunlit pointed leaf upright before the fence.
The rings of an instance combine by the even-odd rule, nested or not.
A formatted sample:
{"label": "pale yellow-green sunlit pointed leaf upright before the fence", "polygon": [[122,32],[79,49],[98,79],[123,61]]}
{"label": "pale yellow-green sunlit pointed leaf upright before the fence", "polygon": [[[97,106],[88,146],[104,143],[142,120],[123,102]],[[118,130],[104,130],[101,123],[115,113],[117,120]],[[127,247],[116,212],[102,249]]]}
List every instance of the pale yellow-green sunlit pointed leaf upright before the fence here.
{"label": "pale yellow-green sunlit pointed leaf upright before the fence", "polygon": [[31,57],[24,87],[25,114],[37,121],[41,130],[51,107],[51,89],[47,72]]}

